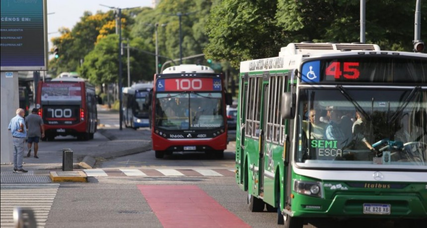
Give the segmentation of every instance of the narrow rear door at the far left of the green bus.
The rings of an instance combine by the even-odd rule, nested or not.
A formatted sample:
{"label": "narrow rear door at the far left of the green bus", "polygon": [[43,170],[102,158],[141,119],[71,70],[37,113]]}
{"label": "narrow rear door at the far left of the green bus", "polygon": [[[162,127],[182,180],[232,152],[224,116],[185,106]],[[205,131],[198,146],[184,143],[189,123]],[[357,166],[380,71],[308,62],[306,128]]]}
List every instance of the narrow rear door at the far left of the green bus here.
{"label": "narrow rear door at the far left of the green bus", "polygon": [[[240,94],[239,94],[239,119],[237,119],[236,127],[236,182],[238,184],[245,183],[244,172],[245,172],[245,122],[246,122],[246,96],[248,94],[248,83],[249,75],[246,73],[244,77],[240,78]],[[243,172],[243,173],[242,173]],[[245,183],[244,190],[247,189],[247,183]]]}

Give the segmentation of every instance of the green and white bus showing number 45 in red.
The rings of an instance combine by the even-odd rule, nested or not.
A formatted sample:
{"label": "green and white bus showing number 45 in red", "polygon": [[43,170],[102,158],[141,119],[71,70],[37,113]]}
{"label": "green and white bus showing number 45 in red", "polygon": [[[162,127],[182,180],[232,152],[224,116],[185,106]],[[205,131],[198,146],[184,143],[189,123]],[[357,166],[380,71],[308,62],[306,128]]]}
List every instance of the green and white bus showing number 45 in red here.
{"label": "green and white bus showing number 45 in red", "polygon": [[[236,182],[253,212],[427,218],[427,55],[292,43],[240,63]],[[418,224],[419,225],[419,224]]]}

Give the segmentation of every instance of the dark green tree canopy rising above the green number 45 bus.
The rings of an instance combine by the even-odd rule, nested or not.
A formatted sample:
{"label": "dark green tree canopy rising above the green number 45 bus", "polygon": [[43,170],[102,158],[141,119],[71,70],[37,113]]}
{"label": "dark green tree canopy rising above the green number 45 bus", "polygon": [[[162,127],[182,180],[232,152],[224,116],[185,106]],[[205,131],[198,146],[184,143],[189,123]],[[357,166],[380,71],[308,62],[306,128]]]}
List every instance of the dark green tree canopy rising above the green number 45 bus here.
{"label": "dark green tree canopy rising above the green number 45 bus", "polygon": [[[204,52],[239,67],[242,60],[275,57],[290,42],[358,42],[359,7],[359,0],[223,0],[211,10]],[[406,0],[367,1],[366,43],[411,52],[414,11],[415,2]]]}

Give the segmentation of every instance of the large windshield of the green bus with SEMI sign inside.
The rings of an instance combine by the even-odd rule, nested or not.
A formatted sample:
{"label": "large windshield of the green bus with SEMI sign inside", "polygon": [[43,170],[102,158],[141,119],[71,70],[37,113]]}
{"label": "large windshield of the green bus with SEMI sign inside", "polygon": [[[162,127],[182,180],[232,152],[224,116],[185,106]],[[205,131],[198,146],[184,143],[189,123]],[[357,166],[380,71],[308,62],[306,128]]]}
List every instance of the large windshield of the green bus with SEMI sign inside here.
{"label": "large windshield of the green bus with SEMI sign inside", "polygon": [[426,169],[427,91],[421,87],[300,90],[300,167]]}

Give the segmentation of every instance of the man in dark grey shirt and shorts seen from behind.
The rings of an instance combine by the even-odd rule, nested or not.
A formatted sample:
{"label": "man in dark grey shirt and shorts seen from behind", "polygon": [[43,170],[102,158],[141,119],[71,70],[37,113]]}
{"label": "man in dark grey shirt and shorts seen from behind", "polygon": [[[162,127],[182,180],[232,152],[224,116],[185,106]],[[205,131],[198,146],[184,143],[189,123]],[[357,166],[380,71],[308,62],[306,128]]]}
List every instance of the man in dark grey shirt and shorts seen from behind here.
{"label": "man in dark grey shirt and shorts seen from behind", "polygon": [[39,110],[34,108],[27,117],[25,117],[25,124],[27,125],[27,136],[28,136],[28,154],[27,158],[31,156],[31,147],[34,142],[34,158],[39,158],[37,152],[39,150],[40,137],[45,137],[45,126],[43,125],[43,119],[37,114]]}

